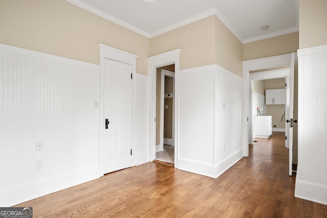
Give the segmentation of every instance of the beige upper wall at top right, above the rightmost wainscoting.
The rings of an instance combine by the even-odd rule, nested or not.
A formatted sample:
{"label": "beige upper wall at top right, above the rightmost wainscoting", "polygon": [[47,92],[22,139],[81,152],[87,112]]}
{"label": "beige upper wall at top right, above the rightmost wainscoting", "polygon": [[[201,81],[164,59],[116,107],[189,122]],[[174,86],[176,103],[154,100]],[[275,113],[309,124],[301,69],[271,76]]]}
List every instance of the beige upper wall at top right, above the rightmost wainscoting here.
{"label": "beige upper wall at top right, above the rightmost wainscoting", "polygon": [[327,1],[299,0],[299,48],[327,44]]}

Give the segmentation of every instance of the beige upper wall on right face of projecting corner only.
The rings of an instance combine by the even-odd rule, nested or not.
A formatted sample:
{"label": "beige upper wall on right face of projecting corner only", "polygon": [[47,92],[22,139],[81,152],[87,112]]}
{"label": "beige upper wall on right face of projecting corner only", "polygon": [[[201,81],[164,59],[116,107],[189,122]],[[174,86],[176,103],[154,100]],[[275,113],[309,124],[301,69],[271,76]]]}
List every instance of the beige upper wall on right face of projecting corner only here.
{"label": "beige upper wall on right face of projecting corner only", "polygon": [[216,16],[215,31],[216,64],[242,77],[242,42]]}

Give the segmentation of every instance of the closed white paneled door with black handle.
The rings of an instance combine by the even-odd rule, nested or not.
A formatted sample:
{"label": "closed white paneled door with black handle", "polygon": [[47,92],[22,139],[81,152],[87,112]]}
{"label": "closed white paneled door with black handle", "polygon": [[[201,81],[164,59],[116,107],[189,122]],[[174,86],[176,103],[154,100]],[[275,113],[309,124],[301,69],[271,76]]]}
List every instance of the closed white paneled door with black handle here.
{"label": "closed white paneled door with black handle", "polygon": [[132,165],[131,65],[105,59],[104,173]]}

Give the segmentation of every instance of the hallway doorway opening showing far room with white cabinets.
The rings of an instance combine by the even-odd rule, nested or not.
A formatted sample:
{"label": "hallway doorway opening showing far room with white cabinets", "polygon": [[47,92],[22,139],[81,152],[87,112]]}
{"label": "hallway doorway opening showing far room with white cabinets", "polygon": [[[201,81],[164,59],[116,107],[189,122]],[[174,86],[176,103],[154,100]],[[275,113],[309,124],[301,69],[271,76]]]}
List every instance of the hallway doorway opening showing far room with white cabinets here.
{"label": "hallway doorway opening showing far room with white cabinets", "polygon": [[[285,69],[289,70],[289,69]],[[274,71],[271,71],[274,74]],[[250,75],[251,78],[251,75]],[[286,131],[286,77],[252,80],[252,137],[249,156],[288,162]],[[249,124],[250,126],[250,124]],[[276,153],[280,154],[276,158]],[[278,156],[278,155],[277,155]],[[284,158],[281,158],[284,157]]]}

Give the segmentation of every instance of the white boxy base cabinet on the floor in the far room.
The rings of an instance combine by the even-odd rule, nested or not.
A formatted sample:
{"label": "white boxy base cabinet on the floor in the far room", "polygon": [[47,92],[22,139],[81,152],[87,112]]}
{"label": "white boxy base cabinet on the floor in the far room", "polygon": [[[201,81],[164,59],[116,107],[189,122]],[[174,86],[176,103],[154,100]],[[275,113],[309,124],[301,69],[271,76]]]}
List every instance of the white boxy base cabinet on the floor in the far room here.
{"label": "white boxy base cabinet on the floor in the far room", "polygon": [[254,137],[269,138],[272,134],[272,116],[254,116]]}

